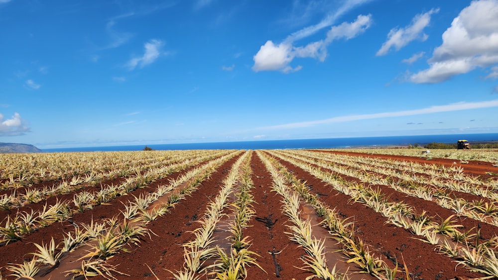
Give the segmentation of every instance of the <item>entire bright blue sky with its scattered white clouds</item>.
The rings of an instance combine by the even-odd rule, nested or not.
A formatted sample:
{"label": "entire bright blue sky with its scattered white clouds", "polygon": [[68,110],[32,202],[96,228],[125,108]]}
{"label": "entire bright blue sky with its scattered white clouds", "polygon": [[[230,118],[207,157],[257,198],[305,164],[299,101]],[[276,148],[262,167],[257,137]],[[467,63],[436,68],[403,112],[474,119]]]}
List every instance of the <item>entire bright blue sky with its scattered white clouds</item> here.
{"label": "entire bright blue sky with its scattered white clouds", "polygon": [[498,0],[0,0],[0,142],[498,132]]}

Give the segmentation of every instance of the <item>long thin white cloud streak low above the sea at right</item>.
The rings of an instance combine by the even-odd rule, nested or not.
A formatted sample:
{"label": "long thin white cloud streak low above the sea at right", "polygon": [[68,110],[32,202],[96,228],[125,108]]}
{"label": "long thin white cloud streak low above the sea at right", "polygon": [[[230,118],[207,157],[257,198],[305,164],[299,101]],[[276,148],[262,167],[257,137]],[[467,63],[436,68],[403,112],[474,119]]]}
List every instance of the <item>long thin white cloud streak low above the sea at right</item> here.
{"label": "long thin white cloud streak low above the sea at right", "polygon": [[448,104],[448,105],[431,106],[428,108],[406,110],[406,111],[339,116],[339,117],[333,117],[333,118],[322,119],[322,120],[293,122],[293,123],[287,123],[287,124],[281,124],[281,125],[266,126],[266,127],[261,127],[261,129],[302,128],[302,127],[310,127],[310,126],[315,126],[315,125],[320,125],[320,124],[328,124],[328,123],[340,123],[340,122],[364,120],[364,119],[377,119],[377,118],[423,115],[423,114],[470,110],[470,109],[479,109],[479,108],[489,108],[489,107],[498,107],[498,99],[490,100],[490,101],[482,101],[482,102],[459,102],[459,103],[453,103],[453,104]]}

